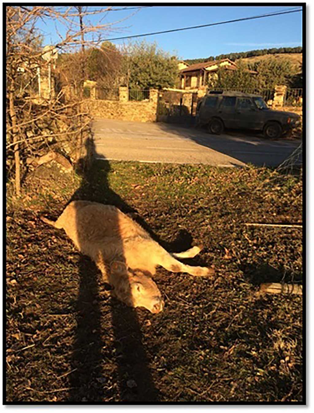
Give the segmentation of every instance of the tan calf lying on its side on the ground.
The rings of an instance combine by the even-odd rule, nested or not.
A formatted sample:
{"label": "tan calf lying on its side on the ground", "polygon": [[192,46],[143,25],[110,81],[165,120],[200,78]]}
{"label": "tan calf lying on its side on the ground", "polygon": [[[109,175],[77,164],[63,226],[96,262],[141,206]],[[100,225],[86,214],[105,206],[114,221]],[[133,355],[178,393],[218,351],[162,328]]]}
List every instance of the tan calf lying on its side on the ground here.
{"label": "tan calf lying on its side on the ground", "polygon": [[[172,272],[196,276],[213,273],[209,268],[188,266],[176,260],[175,256],[195,256],[200,252],[199,247],[169,254],[138,223],[111,205],[73,201],[57,221],[43,217],[42,220],[55,228],[63,228],[76,247],[90,256],[104,278],[114,285],[117,297],[128,305],[145,306],[150,311],[154,310],[152,312],[158,312],[155,311],[157,300],[162,311],[160,292],[155,282],[147,276],[147,273],[154,275],[158,265]],[[108,263],[111,263],[110,271]],[[139,289],[141,294],[137,291]]]}

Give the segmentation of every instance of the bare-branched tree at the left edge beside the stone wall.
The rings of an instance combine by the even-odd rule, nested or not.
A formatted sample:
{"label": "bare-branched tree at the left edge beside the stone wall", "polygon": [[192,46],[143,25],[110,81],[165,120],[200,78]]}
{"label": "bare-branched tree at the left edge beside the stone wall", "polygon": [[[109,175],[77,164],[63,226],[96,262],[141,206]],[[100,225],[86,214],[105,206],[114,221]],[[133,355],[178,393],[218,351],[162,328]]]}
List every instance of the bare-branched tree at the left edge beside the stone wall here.
{"label": "bare-branched tree at the left edge beside the stone wall", "polygon": [[[53,138],[67,137],[82,145],[82,132],[88,123],[88,114],[81,110],[83,83],[86,76],[86,47],[98,45],[104,33],[114,29],[116,24],[103,24],[101,19],[112,7],[51,7],[11,5],[6,13],[6,76],[7,76],[7,173],[15,170],[15,191],[21,193],[21,174],[26,169],[26,158],[40,150],[49,150]],[[90,24],[87,18],[98,15],[98,24]],[[51,49],[41,47],[42,36],[38,21],[55,21],[58,41]],[[65,34],[59,27],[65,28]],[[65,102],[62,91],[43,97],[38,90],[38,73],[48,70],[51,62],[43,60],[44,53],[52,53],[55,48],[62,52],[79,52],[81,70],[76,78],[78,93],[72,102]],[[56,72],[55,72],[56,74]],[[41,79],[43,81],[43,79]],[[63,131],[50,130],[51,122],[63,122]],[[76,125],[75,128],[73,126]],[[61,139],[61,140],[62,140]],[[14,160],[10,164],[10,159]]]}

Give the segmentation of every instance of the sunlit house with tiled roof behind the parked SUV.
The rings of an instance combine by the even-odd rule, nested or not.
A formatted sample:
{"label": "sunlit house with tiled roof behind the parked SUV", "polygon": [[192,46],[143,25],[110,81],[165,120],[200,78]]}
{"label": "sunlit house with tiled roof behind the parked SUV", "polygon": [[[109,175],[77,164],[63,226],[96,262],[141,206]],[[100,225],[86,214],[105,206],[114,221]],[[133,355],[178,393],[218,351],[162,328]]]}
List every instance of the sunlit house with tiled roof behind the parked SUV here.
{"label": "sunlit house with tiled roof behind the parked SUV", "polygon": [[[195,63],[181,69],[181,89],[202,89],[206,88],[210,78],[217,77],[219,68],[226,70],[237,70],[238,67],[235,62],[230,59],[211,60],[209,62]],[[257,72],[249,70],[254,75]]]}

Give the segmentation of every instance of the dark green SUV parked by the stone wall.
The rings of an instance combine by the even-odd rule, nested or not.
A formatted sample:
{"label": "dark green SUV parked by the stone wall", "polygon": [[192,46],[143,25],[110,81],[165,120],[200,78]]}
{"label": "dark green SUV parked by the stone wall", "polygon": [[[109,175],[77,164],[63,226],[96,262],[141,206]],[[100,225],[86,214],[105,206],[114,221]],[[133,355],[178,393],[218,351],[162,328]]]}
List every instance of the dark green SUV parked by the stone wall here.
{"label": "dark green SUV parked by the stone wall", "polygon": [[266,138],[276,139],[299,123],[299,115],[269,109],[261,96],[249,93],[212,91],[196,108],[196,124],[207,126],[215,135],[224,128],[254,129],[263,131]]}

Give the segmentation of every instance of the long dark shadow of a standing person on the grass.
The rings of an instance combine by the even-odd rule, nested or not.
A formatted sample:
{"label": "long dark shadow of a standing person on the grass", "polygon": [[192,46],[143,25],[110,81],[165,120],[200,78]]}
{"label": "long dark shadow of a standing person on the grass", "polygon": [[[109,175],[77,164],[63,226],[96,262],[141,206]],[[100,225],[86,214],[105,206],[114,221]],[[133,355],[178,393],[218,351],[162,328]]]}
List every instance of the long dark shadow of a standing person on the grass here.
{"label": "long dark shadow of a standing person on the grass", "polygon": [[[93,143],[88,151],[93,152]],[[90,156],[88,154],[87,156]],[[110,204],[124,213],[134,212],[119,195],[110,189],[108,173],[109,162],[92,162],[89,168],[81,163],[82,185],[73,194],[70,201],[88,200]],[[101,225],[101,223],[99,223]],[[78,243],[80,243],[78,236]],[[122,242],[121,242],[122,249]],[[152,380],[149,368],[150,360],[143,345],[143,336],[137,310],[126,306],[117,299],[107,298],[111,312],[111,323],[102,320],[100,306],[102,295],[107,286],[101,280],[100,271],[87,257],[80,255],[79,293],[76,302],[77,328],[71,360],[70,402],[155,402],[159,392]],[[138,310],[147,311],[147,310]],[[106,349],[102,335],[113,335],[113,342]],[[113,353],[112,349],[116,349]],[[105,357],[114,358],[116,368],[103,371]],[[110,377],[109,377],[110,376]],[[115,383],[113,383],[115,381]],[[111,383],[112,385],[108,385]]]}

